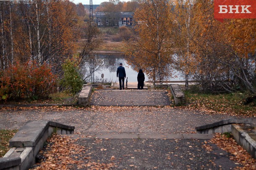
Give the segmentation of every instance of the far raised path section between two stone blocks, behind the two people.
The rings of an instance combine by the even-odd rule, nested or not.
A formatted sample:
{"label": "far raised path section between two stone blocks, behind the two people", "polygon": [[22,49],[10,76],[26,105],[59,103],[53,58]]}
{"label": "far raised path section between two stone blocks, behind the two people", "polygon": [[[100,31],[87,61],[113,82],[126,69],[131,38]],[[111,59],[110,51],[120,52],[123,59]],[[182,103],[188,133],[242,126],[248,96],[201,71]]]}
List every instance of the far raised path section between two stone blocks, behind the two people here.
{"label": "far raised path section between two stone blocks, behind the two people", "polygon": [[170,98],[165,90],[100,90],[91,96],[97,106],[168,106]]}

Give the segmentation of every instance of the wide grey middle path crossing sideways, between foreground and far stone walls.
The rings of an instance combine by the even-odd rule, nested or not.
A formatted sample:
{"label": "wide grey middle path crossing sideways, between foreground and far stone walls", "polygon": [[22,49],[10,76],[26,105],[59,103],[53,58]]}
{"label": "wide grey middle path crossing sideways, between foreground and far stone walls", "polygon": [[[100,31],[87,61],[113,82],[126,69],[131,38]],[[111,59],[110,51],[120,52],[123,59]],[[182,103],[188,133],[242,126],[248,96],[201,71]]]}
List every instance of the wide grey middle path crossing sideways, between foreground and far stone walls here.
{"label": "wide grey middle path crossing sideways, between foreground and far stone walls", "polygon": [[[0,129],[18,129],[29,120],[51,120],[81,134],[179,134],[232,116],[172,107],[9,108],[0,109]],[[256,125],[256,118],[252,118]]]}

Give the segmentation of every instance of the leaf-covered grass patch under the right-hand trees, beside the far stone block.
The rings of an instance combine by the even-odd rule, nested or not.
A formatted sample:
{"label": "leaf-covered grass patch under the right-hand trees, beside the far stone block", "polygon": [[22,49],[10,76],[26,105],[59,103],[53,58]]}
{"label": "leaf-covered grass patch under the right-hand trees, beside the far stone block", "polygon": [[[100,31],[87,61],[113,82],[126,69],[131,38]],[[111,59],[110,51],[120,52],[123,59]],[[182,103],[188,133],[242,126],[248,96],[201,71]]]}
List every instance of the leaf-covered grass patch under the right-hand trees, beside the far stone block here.
{"label": "leaf-covered grass patch under the right-hand trees, beside the far stone block", "polygon": [[227,114],[256,115],[256,103],[243,104],[246,94],[201,94],[185,91],[185,97],[189,107],[197,109],[210,109],[215,112]]}

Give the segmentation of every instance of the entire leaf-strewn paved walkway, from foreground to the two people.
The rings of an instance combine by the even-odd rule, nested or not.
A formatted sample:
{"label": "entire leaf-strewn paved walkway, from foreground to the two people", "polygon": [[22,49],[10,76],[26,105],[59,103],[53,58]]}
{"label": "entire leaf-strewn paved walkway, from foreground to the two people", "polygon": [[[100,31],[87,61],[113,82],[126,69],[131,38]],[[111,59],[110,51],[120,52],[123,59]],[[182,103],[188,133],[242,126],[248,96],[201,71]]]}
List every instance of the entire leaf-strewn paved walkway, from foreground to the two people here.
{"label": "entire leaf-strewn paved walkway, from foreground to the two people", "polygon": [[[153,99],[154,97],[154,99]],[[117,107],[123,105],[125,107]],[[86,152],[76,159],[112,163],[112,169],[230,169],[230,155],[212,145],[210,136],[195,133],[195,127],[231,116],[170,106],[166,91],[97,91],[89,108],[20,108],[0,110],[0,129],[18,129],[28,120],[52,120],[76,127],[74,138]],[[128,105],[133,107],[129,107]],[[114,105],[104,107],[104,105]],[[256,120],[252,120],[254,125]],[[86,158],[86,159],[85,159]]]}

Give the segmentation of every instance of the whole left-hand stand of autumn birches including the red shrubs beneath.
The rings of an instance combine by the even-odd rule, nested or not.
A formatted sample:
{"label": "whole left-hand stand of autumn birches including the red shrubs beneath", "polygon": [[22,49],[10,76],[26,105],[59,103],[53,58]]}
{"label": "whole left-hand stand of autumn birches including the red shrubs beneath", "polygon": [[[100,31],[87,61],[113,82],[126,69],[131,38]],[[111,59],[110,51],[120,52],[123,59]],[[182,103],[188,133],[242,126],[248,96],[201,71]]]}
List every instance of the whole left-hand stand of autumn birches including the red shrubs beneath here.
{"label": "whole left-hand stand of autumn birches including the red shrubs beneath", "polygon": [[[69,0],[0,1],[0,98],[44,97],[57,86],[67,86],[57,84],[65,70],[73,73],[67,63],[80,73],[79,86],[99,68],[81,70],[101,41],[99,30],[81,20],[83,12]],[[49,84],[54,86],[45,94]]]}

